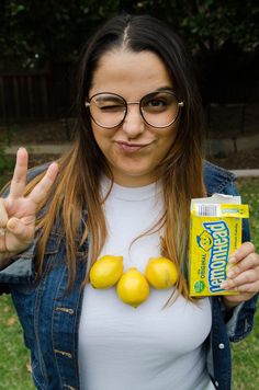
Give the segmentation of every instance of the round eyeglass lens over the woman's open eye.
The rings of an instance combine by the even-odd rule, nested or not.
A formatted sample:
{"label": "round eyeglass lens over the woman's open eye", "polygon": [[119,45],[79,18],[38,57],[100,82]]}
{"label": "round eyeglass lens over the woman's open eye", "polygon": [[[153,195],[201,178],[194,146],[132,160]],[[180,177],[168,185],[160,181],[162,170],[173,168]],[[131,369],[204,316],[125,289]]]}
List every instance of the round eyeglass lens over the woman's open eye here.
{"label": "round eyeglass lens over the woman's open eye", "polygon": [[142,99],[144,119],[154,127],[166,127],[173,123],[179,113],[178,99],[172,92],[155,92]]}

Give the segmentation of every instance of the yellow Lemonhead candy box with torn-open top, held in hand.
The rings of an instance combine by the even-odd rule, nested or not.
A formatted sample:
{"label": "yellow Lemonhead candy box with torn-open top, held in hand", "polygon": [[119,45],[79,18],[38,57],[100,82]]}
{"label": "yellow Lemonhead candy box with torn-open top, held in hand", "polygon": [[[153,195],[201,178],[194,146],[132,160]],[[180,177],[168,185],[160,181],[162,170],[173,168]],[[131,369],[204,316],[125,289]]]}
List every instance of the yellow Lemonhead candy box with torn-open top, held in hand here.
{"label": "yellow Lemonhead candy box with torn-open top, held in hand", "polygon": [[[229,255],[241,244],[248,205],[240,196],[214,194],[191,202],[190,296],[234,295],[224,290]],[[235,266],[235,265],[232,265]]]}

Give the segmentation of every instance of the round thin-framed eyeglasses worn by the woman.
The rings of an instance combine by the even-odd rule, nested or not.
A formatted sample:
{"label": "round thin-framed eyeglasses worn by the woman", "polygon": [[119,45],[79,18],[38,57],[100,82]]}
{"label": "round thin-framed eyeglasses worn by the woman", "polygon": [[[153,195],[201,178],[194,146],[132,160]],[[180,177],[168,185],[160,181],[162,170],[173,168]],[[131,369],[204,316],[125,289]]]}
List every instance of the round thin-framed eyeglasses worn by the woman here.
{"label": "round thin-framed eyeglasses worn by the woman", "polygon": [[143,119],[153,127],[172,125],[184,103],[171,91],[156,91],[143,96],[139,102],[126,102],[116,93],[101,92],[85,102],[94,123],[104,128],[113,128],[123,123],[127,106],[138,104]]}

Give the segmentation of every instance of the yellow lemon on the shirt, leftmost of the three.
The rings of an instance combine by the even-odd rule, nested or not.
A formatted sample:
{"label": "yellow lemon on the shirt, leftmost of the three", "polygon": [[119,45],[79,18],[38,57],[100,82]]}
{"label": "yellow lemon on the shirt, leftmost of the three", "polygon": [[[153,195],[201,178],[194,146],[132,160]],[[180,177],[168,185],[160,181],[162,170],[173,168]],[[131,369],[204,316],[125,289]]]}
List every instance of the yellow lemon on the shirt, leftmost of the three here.
{"label": "yellow lemon on the shirt, leftmost of the three", "polygon": [[90,282],[94,288],[108,288],[114,286],[122,274],[123,256],[108,254],[93,263],[90,271]]}

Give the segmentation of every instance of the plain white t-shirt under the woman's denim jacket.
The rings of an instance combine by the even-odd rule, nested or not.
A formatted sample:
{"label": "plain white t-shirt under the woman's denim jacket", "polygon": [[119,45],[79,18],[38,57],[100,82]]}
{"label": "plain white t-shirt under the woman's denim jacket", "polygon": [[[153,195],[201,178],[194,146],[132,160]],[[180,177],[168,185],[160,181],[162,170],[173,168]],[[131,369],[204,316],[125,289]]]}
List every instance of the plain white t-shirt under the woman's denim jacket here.
{"label": "plain white t-shirt under the woman's denim jacket", "polygon": [[[103,191],[108,185],[104,180]],[[144,273],[149,257],[160,255],[160,233],[133,240],[154,226],[162,206],[158,184],[114,184],[104,205],[109,238],[101,255],[123,255],[124,271],[136,266]],[[210,301],[194,305],[180,296],[162,308],[172,291],[150,288],[135,309],[120,300],[115,287],[85,288],[79,325],[83,390],[214,389],[203,353],[212,323]]]}

